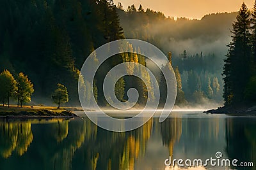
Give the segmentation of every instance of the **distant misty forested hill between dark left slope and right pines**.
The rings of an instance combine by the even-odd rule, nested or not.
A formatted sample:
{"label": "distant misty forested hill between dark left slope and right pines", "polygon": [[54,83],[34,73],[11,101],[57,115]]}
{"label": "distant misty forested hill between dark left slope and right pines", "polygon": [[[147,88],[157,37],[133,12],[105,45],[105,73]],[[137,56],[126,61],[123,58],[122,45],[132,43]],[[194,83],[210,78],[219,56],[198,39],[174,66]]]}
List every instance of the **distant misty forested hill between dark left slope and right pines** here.
{"label": "distant misty forested hill between dark left slope and right pines", "polygon": [[221,104],[223,77],[220,73],[237,12],[213,13],[201,20],[189,20],[165,17],[143,6],[136,9],[131,5],[124,9],[118,4],[117,8],[125,38],[148,41],[166,55],[172,52],[173,67],[179,67],[182,90],[190,103]]}

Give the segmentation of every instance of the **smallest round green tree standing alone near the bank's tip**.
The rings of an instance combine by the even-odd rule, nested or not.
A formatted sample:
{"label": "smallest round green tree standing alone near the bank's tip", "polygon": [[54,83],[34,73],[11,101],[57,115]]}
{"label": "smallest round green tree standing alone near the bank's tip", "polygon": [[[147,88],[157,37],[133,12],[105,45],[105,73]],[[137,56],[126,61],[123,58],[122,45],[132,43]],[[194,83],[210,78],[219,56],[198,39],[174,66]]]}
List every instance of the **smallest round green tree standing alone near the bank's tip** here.
{"label": "smallest round green tree standing alone near the bank's tip", "polygon": [[68,102],[67,87],[58,83],[57,89],[52,94],[52,100],[53,100],[53,103],[58,104],[58,108],[60,108],[61,103],[67,103]]}

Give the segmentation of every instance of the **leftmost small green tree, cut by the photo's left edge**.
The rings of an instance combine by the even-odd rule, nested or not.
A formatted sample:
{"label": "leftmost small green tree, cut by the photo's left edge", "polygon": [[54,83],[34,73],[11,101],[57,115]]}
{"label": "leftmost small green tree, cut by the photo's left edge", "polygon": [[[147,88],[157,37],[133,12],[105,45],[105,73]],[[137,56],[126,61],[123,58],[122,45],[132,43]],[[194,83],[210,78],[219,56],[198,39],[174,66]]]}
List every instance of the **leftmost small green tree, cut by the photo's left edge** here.
{"label": "leftmost small green tree, cut by the photo's left edge", "polygon": [[8,107],[10,106],[10,97],[15,97],[17,92],[17,81],[13,78],[12,74],[8,70],[4,70],[0,74],[0,102],[4,104],[8,101]]}

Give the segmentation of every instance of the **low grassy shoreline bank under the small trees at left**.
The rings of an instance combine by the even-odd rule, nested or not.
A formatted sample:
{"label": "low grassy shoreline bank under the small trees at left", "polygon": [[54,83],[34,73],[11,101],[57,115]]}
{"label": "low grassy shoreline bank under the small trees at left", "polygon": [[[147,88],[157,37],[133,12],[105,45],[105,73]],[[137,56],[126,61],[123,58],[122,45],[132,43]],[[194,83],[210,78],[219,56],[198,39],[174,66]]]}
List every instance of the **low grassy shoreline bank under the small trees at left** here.
{"label": "low grassy shoreline bank under the small trees at left", "polygon": [[0,118],[71,118],[77,117],[67,108],[54,108],[47,106],[0,106]]}

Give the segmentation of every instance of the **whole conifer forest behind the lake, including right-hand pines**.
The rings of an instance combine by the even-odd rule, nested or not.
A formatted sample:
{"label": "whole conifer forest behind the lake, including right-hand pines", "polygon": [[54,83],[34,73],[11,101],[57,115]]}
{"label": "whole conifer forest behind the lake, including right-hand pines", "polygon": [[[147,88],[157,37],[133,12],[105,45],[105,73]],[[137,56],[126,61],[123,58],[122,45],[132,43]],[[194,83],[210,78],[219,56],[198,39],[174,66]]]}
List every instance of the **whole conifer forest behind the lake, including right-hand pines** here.
{"label": "whole conifer forest behind the lake, including right-hand pines", "polygon": [[[213,13],[201,20],[166,17],[141,5],[124,9],[112,0],[3,0],[0,6],[5,7],[0,11],[4,16],[0,18],[0,72],[8,69],[13,75],[28,75],[35,89],[31,104],[50,104],[52,92],[60,83],[67,87],[67,105],[78,106],[77,82],[86,57],[99,46],[124,38],[147,41],[166,54],[177,78],[179,106],[219,106],[223,98],[225,104],[255,101],[256,6],[252,15],[243,4],[239,12]],[[132,45],[127,48],[133,53],[115,55],[100,67],[93,87],[84,78],[84,102],[92,101],[93,96],[86,91],[93,89],[97,102],[108,105],[102,81],[116,64],[132,61],[150,68],[150,60],[136,54],[140,49]],[[163,75],[155,73],[164,89]],[[146,73],[141,74],[148,78]],[[151,82],[148,79],[146,83]],[[139,89],[138,104],[145,104],[149,91],[145,83],[131,76],[116,83],[117,98],[125,101],[131,87]]]}

